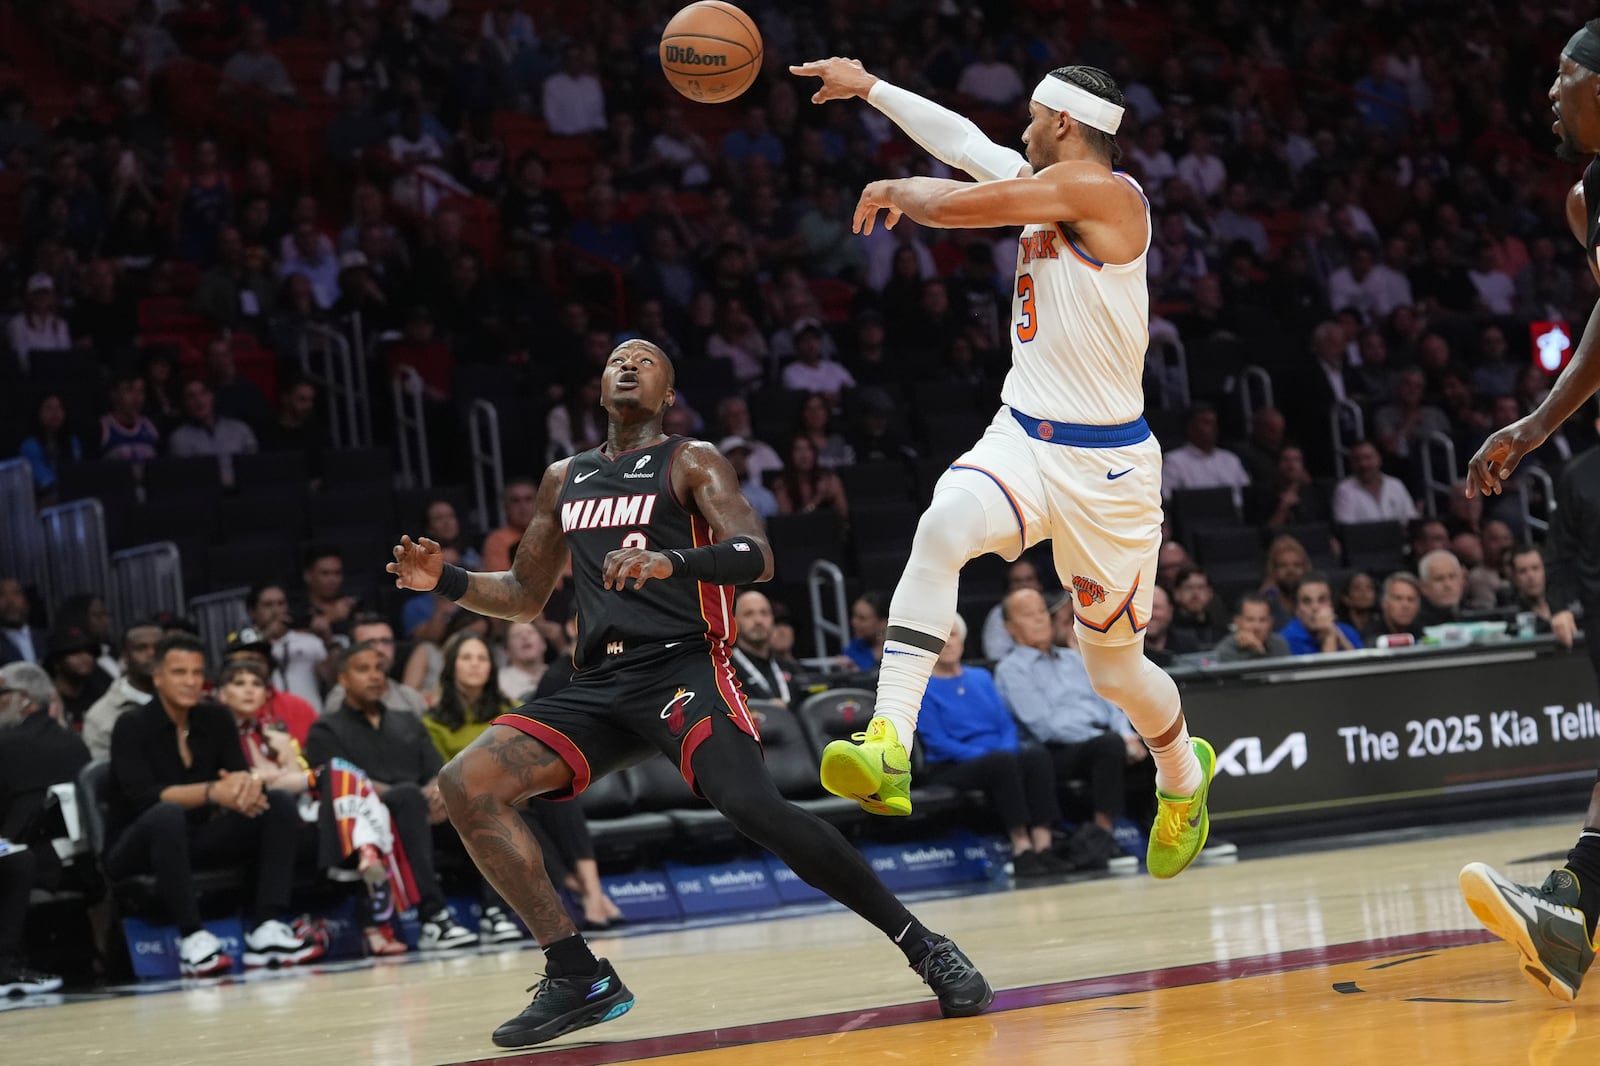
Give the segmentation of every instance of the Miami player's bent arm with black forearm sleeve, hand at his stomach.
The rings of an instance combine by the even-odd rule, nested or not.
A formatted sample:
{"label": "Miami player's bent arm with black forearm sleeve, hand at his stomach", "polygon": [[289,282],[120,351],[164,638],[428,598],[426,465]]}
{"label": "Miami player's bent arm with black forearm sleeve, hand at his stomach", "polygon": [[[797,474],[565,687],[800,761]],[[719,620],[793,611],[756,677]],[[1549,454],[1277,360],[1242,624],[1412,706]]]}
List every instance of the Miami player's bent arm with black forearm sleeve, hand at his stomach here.
{"label": "Miami player's bent arm with black forearm sleeve, hand at his stomach", "polygon": [[773,549],[762,519],[739,491],[739,475],[714,445],[704,440],[683,445],[672,463],[672,491],[706,519],[717,543],[606,552],[605,587],[637,589],[664,578],[694,578],[709,584],[771,581]]}

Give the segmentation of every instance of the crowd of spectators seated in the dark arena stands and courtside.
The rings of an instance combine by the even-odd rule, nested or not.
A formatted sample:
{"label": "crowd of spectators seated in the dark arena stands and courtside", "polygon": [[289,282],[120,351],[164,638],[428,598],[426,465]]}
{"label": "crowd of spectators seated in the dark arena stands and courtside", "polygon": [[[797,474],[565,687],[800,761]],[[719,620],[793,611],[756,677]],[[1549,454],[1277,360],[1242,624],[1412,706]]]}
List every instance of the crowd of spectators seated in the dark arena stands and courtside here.
{"label": "crowd of spectators seated in the dark arena stands and courtside", "polygon": [[[154,872],[186,935],[184,863],[222,834],[206,826],[248,823],[227,855],[264,869],[293,844],[267,832],[288,826],[277,812],[301,812],[312,866],[371,887],[373,951],[394,949],[386,892],[437,919],[434,946],[518,933],[482,885],[478,932],[440,909],[432,773],[499,706],[565,680],[570,589],[506,631],[397,599],[379,568],[402,530],[507,567],[526,479],[602,440],[598,368],[622,338],[674,359],[669,431],[717,442],[771,523],[779,581],[739,600],[746,690],[795,701],[816,648],[805,563],[786,559],[808,554],[864,592],[843,655],[875,667],[888,607],[872,587],[904,557],[930,474],[997,403],[1014,235],[851,235],[866,181],[950,171],[866,104],[811,107],[790,61],[856,54],[1003,142],[1042,72],[1117,77],[1120,165],[1152,205],[1147,391],[1170,519],[1152,659],[1333,653],[1480,616],[1549,627],[1565,607],[1523,498],[1451,490],[1546,394],[1534,335],[1571,343],[1597,295],[1563,214],[1576,171],[1549,154],[1546,90],[1578,18],[1560,5],[750,0],[768,66],[718,107],[656,74],[664,0],[35,6],[8,16],[0,66],[0,453],[27,463],[42,504],[101,498],[114,547],[178,543],[190,592],[251,591],[226,663],[202,663],[202,701],[182,619],[115,632],[98,597],[43,603],[0,581],[0,663],[30,666],[0,691],[22,707],[0,757],[59,720],[82,733],[72,759],[110,759],[109,869]],[[333,397],[299,359],[310,327],[360,341],[376,440],[395,424],[390,383],[418,397],[437,491],[392,493],[390,466],[349,472]],[[475,400],[501,411],[504,522],[454,488]],[[1594,435],[1568,426],[1526,463],[1558,474]],[[195,458],[214,477],[162,474]],[[1013,850],[1034,856],[1019,871],[1053,868],[1046,778],[1086,779],[1099,824],[1128,813],[1147,768],[1077,675],[1070,626],[1051,629],[1054,587],[1043,559],[966,583],[974,639],[952,643],[995,674],[950,651],[926,720],[974,711],[923,733],[933,776],[992,786]],[[214,733],[173,760],[157,727],[184,714]],[[163,743],[160,765],[115,765]],[[365,797],[376,858],[328,852],[304,821],[346,765],[360,783],[338,787]],[[11,812],[0,837],[26,842]],[[536,831],[584,916],[614,919],[581,828]],[[19,864],[0,853],[0,984],[21,965],[5,904]],[[258,879],[250,952],[315,952],[286,903]],[[184,957],[205,970],[219,951]]]}

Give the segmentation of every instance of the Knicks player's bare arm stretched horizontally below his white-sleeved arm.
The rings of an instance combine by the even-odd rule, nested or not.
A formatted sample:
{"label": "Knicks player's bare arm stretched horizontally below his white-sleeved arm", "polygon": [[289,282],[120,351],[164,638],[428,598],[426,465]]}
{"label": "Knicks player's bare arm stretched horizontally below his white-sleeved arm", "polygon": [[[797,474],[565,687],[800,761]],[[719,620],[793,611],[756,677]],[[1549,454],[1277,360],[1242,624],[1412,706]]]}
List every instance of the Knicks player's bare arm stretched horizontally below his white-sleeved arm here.
{"label": "Knicks player's bare arm stretched horizontally below his white-sleeved arm", "polygon": [[944,178],[874,181],[856,205],[854,230],[870,234],[883,208],[890,227],[901,214],[938,229],[1125,219],[1144,224],[1144,202],[1128,182],[1104,166],[1080,162],[1056,163],[1030,178],[976,184]]}

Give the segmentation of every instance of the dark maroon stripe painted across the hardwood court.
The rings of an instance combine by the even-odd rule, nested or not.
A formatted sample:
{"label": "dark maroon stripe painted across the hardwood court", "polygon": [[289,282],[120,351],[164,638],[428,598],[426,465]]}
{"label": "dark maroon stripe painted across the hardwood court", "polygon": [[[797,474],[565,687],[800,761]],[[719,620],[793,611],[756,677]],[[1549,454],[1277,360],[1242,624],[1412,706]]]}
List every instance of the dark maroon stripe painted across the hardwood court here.
{"label": "dark maroon stripe painted across the hardwood court", "polygon": [[[1272,956],[1198,962],[1187,967],[1170,967],[1165,970],[1117,973],[1112,976],[1080,978],[1077,981],[1058,981],[1053,984],[1029,984],[997,992],[990,1013],[1000,1010],[1021,1010],[1026,1007],[1045,1007],[1050,1004],[1072,1004],[1086,999],[1107,999],[1131,992],[1155,992],[1160,989],[1182,988],[1186,984],[1211,984],[1237,978],[1272,976],[1275,973],[1310,970],[1314,967],[1339,965],[1344,962],[1362,962],[1365,959],[1382,959],[1386,956],[1403,956],[1445,948],[1467,948],[1470,944],[1483,944],[1493,940],[1494,936],[1485,933],[1483,930],[1438,930],[1430,933],[1411,933],[1408,936],[1358,940],[1347,944],[1330,944],[1326,948],[1301,948],[1298,951],[1285,951]],[[496,1066],[600,1066],[602,1063],[626,1063],[640,1058],[714,1052],[746,1044],[797,1040],[802,1037],[832,1036],[835,1032],[858,1029],[883,1029],[888,1026],[904,1026],[915,1021],[938,1020],[938,1004],[922,1000],[915,1004],[894,1004],[891,1007],[845,1010],[832,1015],[813,1015],[808,1018],[757,1021],[746,1026],[701,1029],[698,1032],[674,1032],[659,1037],[619,1040],[616,1044],[573,1044],[552,1047],[546,1052],[528,1050],[514,1055],[462,1060],[459,1063],[450,1063],[448,1066],[475,1066],[478,1063],[494,1063]],[[595,1032],[598,1036],[603,1029]]]}

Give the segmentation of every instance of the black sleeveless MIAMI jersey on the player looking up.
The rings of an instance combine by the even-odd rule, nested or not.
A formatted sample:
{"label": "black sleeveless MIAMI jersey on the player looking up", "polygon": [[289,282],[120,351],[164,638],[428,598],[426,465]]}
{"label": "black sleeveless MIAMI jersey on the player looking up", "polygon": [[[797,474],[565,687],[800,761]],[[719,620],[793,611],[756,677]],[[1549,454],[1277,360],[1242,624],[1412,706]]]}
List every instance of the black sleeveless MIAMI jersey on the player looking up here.
{"label": "black sleeveless MIAMI jersey on the player looking up", "polygon": [[646,645],[685,640],[733,642],[733,589],[688,578],[646,581],[635,591],[608,591],[605,557],[619,547],[699,547],[712,543],[710,523],[672,493],[672,461],[690,437],[667,437],[614,459],[600,448],[566,464],[560,520],[573,552],[578,599],[578,669],[616,661]]}

